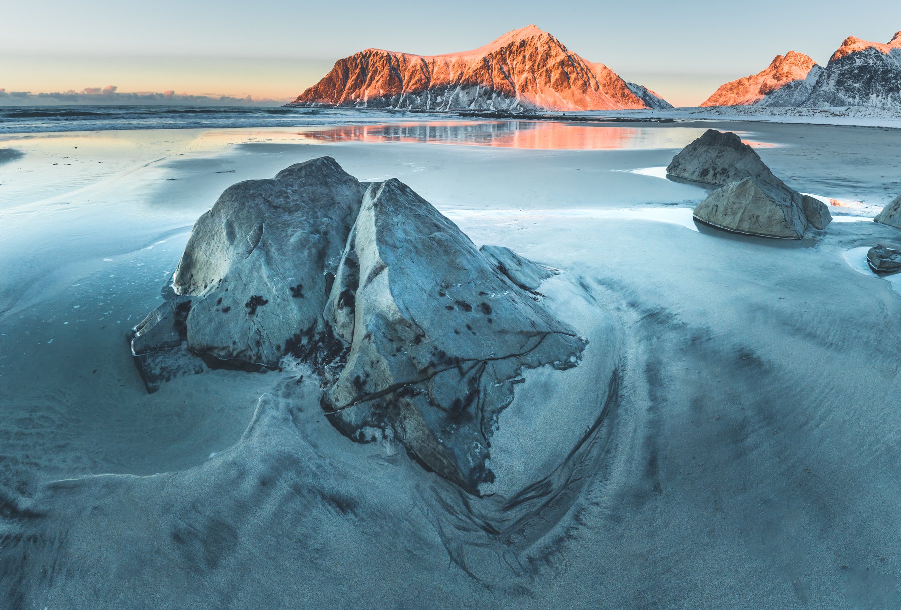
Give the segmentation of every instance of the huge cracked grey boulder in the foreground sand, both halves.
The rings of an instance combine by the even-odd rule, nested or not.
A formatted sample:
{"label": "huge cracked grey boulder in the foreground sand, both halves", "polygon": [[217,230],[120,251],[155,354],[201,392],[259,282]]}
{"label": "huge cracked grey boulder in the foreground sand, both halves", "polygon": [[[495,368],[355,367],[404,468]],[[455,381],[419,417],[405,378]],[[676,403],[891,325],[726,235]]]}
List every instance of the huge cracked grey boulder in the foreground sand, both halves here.
{"label": "huge cracked grey boulder in the foreground sand, both halves", "polygon": [[196,370],[187,351],[250,369],[299,359],[341,432],[395,438],[477,492],[520,371],[572,368],[585,346],[540,303],[551,270],[486,251],[396,179],[314,159],[228,188],[201,216],[179,296],[136,327],[132,352],[150,390]]}

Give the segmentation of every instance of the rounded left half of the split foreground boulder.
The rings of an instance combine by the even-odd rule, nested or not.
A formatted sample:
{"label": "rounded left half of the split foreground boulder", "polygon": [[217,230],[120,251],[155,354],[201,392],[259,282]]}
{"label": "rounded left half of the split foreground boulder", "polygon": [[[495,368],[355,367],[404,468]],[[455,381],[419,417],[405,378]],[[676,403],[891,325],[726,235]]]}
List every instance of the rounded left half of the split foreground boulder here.
{"label": "rounded left half of the split foreground boulder", "polygon": [[366,185],[331,157],[228,187],[196,222],[173,285],[192,351],[278,366],[320,322]]}

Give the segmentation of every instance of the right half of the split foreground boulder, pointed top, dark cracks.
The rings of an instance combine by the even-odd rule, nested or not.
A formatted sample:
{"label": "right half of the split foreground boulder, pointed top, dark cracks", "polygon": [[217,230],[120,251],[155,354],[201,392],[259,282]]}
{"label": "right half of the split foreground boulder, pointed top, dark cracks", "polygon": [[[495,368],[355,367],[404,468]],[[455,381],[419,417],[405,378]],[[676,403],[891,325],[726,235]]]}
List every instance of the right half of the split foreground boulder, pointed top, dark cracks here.
{"label": "right half of the split foreground boulder, pointed top, dark cracks", "polygon": [[[386,428],[463,487],[490,481],[488,439],[523,368],[575,365],[582,343],[396,179],[363,197],[325,324],[349,346],[326,369],[341,430]],[[437,442],[436,442],[437,441]]]}

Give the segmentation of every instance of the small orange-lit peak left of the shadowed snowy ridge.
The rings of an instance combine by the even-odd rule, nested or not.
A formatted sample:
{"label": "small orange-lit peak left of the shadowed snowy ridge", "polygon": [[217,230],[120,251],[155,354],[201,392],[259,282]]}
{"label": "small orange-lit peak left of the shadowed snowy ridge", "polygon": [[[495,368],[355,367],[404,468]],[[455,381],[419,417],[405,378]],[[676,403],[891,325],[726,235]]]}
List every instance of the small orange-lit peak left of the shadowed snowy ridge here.
{"label": "small orange-lit peak left of the shadowed snowy ridge", "polygon": [[777,55],[769,66],[750,77],[738,78],[718,88],[702,106],[729,106],[757,104],[769,94],[789,83],[803,81],[816,62],[796,50]]}

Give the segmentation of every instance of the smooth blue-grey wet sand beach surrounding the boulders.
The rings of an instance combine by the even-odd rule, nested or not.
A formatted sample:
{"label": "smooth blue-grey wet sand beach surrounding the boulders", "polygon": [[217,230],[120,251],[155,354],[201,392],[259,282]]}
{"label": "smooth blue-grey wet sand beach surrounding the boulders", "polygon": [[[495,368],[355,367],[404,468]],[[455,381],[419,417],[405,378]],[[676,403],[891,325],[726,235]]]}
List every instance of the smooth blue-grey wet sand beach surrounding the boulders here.
{"label": "smooth blue-grey wet sand beach surrounding the boulders", "polygon": [[[0,136],[2,605],[899,602],[901,294],[860,267],[869,246],[901,247],[871,222],[901,193],[896,130],[335,123]],[[708,191],[662,168],[709,127],[835,200],[839,222],[790,243],[694,223]],[[401,179],[477,245],[560,269],[615,314],[617,399],[541,536],[474,532],[490,506],[396,443],[343,437],[305,371],[146,393],[126,337],[196,218],[235,182],[323,155]],[[541,406],[529,388],[517,400]]]}

